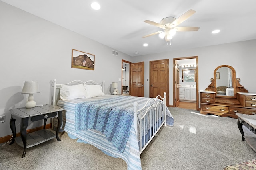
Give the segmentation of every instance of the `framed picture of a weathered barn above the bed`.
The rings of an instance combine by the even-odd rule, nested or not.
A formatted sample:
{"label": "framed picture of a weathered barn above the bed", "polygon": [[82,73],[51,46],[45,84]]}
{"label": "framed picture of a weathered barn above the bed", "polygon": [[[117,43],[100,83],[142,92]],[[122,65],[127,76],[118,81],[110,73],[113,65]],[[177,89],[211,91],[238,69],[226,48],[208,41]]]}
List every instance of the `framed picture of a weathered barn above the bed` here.
{"label": "framed picture of a weathered barn above the bed", "polygon": [[72,49],[71,68],[94,70],[95,55]]}

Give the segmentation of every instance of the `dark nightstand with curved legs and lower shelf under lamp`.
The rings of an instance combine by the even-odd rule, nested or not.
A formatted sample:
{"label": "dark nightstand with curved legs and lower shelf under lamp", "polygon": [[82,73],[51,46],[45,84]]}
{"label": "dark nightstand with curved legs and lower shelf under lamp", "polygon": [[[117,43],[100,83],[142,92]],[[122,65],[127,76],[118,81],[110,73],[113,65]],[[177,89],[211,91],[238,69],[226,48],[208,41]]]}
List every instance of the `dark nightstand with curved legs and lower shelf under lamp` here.
{"label": "dark nightstand with curved legs and lower shelf under lamp", "polygon": [[[10,128],[12,130],[13,139],[10,145],[16,141],[18,145],[23,147],[22,158],[26,156],[26,149],[38,145],[40,143],[46,142],[50,139],[56,137],[57,141],[61,141],[59,138],[60,126],[62,125],[62,110],[61,107],[53,106],[53,105],[43,105],[36,106],[33,108],[18,108],[11,109],[10,112],[12,117],[10,119]],[[16,126],[14,117],[20,118],[20,137],[16,138]],[[51,131],[45,129],[46,121],[49,118],[58,118],[58,127],[56,129],[56,135]],[[28,122],[44,120],[44,129],[35,131],[27,134]]]}

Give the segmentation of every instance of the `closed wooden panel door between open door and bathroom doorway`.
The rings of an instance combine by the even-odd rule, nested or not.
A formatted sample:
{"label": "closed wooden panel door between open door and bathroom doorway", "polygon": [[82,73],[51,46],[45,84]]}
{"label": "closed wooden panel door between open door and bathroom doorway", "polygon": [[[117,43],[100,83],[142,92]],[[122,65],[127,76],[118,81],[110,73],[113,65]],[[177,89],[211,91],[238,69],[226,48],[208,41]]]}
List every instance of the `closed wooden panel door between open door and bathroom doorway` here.
{"label": "closed wooden panel door between open door and bathroom doorway", "polygon": [[150,97],[163,97],[166,92],[166,106],[169,106],[169,60],[150,61]]}

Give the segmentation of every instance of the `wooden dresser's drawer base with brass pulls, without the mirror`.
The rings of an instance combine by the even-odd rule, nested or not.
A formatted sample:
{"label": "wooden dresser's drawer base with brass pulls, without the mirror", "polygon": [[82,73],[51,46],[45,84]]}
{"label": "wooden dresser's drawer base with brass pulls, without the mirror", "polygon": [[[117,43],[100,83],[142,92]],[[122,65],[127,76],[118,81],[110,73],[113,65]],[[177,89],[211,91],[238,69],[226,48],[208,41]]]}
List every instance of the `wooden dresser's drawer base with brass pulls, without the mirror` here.
{"label": "wooden dresser's drawer base with brass pulls, without the mirror", "polygon": [[[215,92],[200,92],[200,113],[238,118],[236,113],[256,115],[256,93],[238,92],[237,99],[226,103],[216,102]],[[218,101],[218,100],[217,100]]]}

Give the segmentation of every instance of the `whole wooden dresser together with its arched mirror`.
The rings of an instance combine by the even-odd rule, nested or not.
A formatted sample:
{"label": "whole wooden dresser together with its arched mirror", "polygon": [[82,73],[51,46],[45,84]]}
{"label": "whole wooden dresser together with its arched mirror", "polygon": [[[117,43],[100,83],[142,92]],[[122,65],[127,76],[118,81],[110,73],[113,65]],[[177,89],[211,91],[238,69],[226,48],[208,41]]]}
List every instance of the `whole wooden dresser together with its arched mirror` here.
{"label": "whole wooden dresser together with its arched mirror", "polygon": [[200,91],[200,113],[233,118],[238,118],[236,113],[256,115],[256,93],[239,83],[232,66],[218,66],[213,75],[208,88]]}

